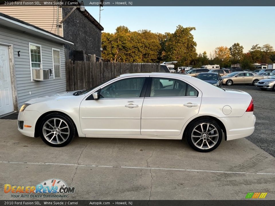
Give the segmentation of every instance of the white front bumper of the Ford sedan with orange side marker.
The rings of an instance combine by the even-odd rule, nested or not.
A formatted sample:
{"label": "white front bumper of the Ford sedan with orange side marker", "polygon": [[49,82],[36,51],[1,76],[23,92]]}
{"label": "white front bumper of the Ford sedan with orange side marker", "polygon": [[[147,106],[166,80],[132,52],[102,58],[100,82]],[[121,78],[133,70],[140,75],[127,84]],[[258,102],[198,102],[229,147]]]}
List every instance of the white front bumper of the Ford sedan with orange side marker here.
{"label": "white front bumper of the Ford sedan with orange side marker", "polygon": [[35,124],[40,116],[41,114],[38,111],[24,110],[23,112],[19,112],[17,119],[18,131],[23,135],[34,137]]}

